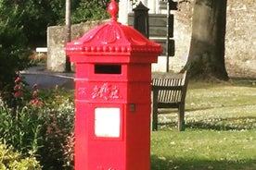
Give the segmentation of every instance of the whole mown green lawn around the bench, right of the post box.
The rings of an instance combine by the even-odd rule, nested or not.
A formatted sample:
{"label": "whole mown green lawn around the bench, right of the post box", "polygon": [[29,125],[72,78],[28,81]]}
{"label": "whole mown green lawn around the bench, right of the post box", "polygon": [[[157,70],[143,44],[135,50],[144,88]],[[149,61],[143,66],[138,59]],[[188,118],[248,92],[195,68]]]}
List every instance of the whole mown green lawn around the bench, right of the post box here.
{"label": "whole mown green lawn around the bench, right of the post box", "polygon": [[175,110],[161,110],[151,133],[151,170],[256,169],[256,85],[190,82],[186,131],[177,131]]}

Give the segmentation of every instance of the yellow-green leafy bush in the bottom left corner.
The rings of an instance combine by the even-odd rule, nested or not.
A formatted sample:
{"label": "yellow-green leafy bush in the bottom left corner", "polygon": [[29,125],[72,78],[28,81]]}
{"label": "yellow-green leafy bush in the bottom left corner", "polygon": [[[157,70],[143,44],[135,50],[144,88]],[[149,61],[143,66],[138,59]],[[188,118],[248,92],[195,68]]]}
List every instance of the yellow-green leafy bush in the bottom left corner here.
{"label": "yellow-green leafy bush in the bottom left corner", "polygon": [[13,152],[13,148],[0,143],[0,169],[1,170],[40,170],[38,161],[32,156],[24,157],[19,152]]}

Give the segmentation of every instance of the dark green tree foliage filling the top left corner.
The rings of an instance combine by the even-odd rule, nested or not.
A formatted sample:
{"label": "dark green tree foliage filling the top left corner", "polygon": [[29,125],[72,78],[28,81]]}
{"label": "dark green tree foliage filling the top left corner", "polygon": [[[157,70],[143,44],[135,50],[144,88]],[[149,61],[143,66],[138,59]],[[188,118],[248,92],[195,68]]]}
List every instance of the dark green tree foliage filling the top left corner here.
{"label": "dark green tree foliage filling the top left corner", "polygon": [[45,41],[47,26],[55,25],[59,18],[65,16],[65,1],[2,0],[0,11],[3,9],[7,9],[4,13],[6,16],[16,13],[16,18],[9,20],[18,25],[18,28],[22,28],[22,32],[29,42],[42,42]]}

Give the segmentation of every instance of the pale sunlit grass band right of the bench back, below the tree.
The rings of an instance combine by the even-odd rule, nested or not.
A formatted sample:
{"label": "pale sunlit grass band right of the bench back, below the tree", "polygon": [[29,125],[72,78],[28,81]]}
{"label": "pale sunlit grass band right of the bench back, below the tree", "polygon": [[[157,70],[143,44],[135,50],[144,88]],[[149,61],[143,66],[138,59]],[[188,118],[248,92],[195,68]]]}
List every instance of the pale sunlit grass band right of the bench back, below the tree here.
{"label": "pale sunlit grass band right of the bench back, below the tree", "polygon": [[256,88],[224,86],[210,89],[188,89],[186,108],[211,108],[256,104]]}

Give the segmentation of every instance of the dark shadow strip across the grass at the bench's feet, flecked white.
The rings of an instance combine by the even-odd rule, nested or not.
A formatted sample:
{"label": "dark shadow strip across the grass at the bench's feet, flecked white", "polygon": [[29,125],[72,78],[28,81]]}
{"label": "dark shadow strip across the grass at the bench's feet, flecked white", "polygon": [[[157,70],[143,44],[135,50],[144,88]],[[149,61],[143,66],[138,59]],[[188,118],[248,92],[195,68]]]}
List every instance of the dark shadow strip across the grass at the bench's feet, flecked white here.
{"label": "dark shadow strip across the grass at the bench's feet, flecked white", "polygon": [[[159,123],[160,128],[176,128],[177,122]],[[186,128],[212,130],[250,130],[256,128],[256,117],[227,117],[186,121]]]}

